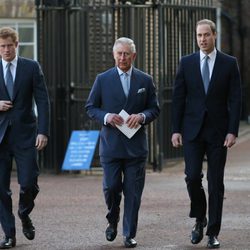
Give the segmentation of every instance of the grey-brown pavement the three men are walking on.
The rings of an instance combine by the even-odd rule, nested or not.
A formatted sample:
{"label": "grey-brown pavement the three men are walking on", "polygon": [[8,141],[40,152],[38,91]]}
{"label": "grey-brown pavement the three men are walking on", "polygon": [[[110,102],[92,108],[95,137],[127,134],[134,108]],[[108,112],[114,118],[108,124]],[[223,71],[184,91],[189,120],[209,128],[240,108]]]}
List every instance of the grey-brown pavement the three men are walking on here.
{"label": "grey-brown pavement the three men are walking on", "polygon": [[[250,249],[250,125],[242,123],[240,137],[228,152],[225,172],[225,202],[220,249]],[[172,164],[171,164],[172,165]],[[206,166],[204,165],[204,168]],[[184,164],[147,172],[140,210],[136,249],[201,250],[190,243],[194,221],[188,218],[189,198],[183,174]],[[204,178],[206,187],[206,180]],[[40,193],[32,220],[36,238],[28,241],[16,218],[17,247],[20,250],[104,250],[123,249],[121,223],[114,242],[107,242],[106,207],[101,172],[80,175],[41,175]],[[14,212],[17,213],[18,184],[12,177]],[[122,211],[121,211],[122,213]],[[3,236],[0,231],[0,237]]]}

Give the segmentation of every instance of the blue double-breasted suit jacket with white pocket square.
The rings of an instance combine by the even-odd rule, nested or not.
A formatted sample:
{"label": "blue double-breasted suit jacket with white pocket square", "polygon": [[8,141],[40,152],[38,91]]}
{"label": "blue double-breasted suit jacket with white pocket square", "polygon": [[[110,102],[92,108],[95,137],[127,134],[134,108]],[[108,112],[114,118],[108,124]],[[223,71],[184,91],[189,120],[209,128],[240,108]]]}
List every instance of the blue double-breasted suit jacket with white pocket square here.
{"label": "blue double-breasted suit jacket with white pocket square", "polygon": [[144,125],[128,139],[117,128],[104,125],[107,113],[118,114],[122,109],[128,114],[144,113],[145,124],[159,115],[159,105],[152,77],[133,68],[130,91],[126,98],[117,68],[111,68],[97,75],[89,94],[86,111],[90,118],[102,124],[100,132],[100,156],[113,158],[146,157],[148,143]]}

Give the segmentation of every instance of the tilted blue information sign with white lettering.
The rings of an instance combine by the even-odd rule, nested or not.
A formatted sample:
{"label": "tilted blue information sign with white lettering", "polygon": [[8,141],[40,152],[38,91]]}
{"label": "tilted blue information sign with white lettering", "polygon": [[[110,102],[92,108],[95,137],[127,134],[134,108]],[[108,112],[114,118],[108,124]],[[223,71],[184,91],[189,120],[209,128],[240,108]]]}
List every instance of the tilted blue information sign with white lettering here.
{"label": "tilted blue information sign with white lettering", "polygon": [[62,170],[88,170],[94,156],[99,137],[97,130],[75,130],[64,157]]}

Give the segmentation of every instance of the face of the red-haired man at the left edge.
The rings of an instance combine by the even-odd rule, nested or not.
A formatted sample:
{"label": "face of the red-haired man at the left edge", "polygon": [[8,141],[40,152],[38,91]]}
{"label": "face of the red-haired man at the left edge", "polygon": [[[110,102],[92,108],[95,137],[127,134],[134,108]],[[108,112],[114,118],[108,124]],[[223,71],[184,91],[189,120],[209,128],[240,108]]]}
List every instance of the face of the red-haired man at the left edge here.
{"label": "face of the red-haired man at the left edge", "polygon": [[0,38],[0,55],[1,57],[7,61],[12,61],[16,56],[16,48],[18,42],[13,42],[11,37],[7,37],[6,39]]}

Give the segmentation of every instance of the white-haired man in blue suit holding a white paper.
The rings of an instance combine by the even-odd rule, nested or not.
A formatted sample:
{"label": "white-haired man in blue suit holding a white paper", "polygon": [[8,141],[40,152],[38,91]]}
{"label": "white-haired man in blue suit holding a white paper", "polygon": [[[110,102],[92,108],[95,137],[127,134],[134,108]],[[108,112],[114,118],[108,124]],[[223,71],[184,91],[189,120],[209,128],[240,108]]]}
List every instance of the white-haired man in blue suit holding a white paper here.
{"label": "white-haired man in blue suit holding a white paper", "polygon": [[[123,236],[125,247],[136,247],[138,212],[145,181],[148,143],[145,125],[159,115],[152,77],[132,66],[136,57],[134,42],[119,38],[113,47],[116,67],[96,77],[86,110],[90,118],[102,124],[99,154],[104,170],[103,191],[108,208],[106,239],[117,235],[120,202],[124,194]],[[126,80],[123,77],[127,77]],[[123,120],[124,109],[129,117]],[[141,128],[127,138],[116,125]]]}

